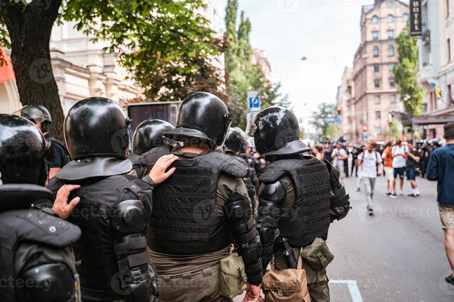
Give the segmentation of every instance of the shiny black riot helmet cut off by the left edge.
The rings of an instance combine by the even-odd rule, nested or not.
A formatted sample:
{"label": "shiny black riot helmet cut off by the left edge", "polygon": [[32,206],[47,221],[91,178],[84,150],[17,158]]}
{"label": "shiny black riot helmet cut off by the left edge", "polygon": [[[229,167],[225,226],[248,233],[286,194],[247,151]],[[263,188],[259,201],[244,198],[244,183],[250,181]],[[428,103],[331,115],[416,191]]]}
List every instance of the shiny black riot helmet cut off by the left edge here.
{"label": "shiny black riot helmet cut off by the left edge", "polygon": [[49,174],[46,140],[29,120],[0,114],[0,185],[45,186]]}

